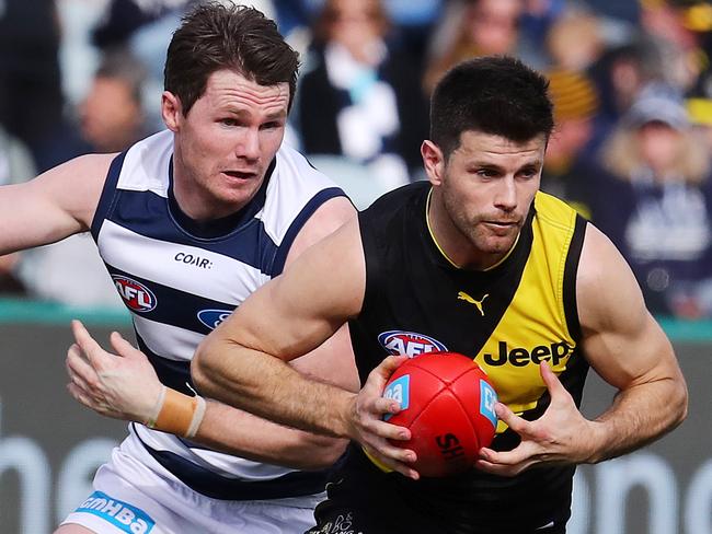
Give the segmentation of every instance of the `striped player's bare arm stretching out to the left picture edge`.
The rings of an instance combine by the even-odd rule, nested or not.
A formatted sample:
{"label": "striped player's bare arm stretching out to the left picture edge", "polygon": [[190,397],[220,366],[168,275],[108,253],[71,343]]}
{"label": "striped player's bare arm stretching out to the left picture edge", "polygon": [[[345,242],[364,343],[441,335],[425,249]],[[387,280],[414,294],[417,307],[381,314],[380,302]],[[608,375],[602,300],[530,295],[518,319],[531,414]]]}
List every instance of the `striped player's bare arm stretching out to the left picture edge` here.
{"label": "striped player's bare arm stretching out to the left picture edge", "polygon": [[116,154],[91,154],[0,186],[0,255],[89,230]]}

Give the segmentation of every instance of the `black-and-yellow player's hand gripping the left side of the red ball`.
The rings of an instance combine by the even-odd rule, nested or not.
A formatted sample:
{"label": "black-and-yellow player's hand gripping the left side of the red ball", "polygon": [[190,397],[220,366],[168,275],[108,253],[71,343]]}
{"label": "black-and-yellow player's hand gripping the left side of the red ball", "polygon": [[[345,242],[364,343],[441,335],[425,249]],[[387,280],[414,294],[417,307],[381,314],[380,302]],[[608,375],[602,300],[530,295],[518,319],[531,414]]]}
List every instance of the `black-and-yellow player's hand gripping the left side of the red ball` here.
{"label": "black-and-yellow player's hand gripping the left side of the red ball", "polygon": [[417,480],[418,473],[409,465],[410,462],[415,462],[415,452],[389,442],[407,441],[411,431],[383,421],[384,415],[397,414],[401,409],[398,400],[383,397],[383,388],[391,374],[406,359],[404,356],[389,356],[369,373],[364,387],[351,405],[351,437],[382,466]]}

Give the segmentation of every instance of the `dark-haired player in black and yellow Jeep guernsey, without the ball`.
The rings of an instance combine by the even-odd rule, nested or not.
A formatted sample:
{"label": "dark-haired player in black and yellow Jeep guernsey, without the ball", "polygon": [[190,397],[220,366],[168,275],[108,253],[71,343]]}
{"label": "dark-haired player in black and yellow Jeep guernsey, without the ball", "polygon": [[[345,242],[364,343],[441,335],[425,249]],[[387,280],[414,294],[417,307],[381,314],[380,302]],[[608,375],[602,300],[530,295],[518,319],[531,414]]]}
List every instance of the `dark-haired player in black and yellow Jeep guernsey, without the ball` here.
{"label": "dark-haired player in black and yellow Jeep guernsey, without the ball", "polygon": [[[198,348],[193,376],[228,404],[352,440],[312,533],[562,533],[576,464],[677,426],[685,381],[619,252],[538,190],[547,80],[515,59],[469,60],[430,117],[429,182],[381,197],[256,291]],[[358,394],[286,363],[344,322]],[[389,443],[409,430],[382,420],[398,404],[381,392],[404,360],[389,355],[443,348],[486,370],[499,428],[472,469],[427,479]],[[618,390],[594,420],[578,410],[589,367]]]}

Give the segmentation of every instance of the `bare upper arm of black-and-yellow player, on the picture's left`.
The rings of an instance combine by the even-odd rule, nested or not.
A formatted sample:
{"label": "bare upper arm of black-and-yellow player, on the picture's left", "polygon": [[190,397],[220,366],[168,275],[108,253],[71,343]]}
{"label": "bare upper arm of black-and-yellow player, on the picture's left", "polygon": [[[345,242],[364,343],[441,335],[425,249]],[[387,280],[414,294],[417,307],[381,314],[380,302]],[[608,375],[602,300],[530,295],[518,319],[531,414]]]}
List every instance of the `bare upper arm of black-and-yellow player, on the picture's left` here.
{"label": "bare upper arm of black-and-yellow player, on the picture's left", "polygon": [[283,360],[306,355],[358,313],[365,277],[354,218],[252,293],[214,337]]}

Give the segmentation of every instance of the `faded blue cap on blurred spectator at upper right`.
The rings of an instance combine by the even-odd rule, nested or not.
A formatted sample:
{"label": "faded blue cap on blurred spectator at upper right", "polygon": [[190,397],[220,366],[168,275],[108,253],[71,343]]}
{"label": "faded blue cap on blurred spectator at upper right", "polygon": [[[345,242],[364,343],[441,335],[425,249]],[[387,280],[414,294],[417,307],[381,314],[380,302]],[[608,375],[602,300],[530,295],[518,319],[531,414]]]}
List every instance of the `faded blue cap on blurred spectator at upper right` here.
{"label": "faded blue cap on blurred spectator at upper right", "polygon": [[645,86],[625,114],[623,121],[634,128],[648,123],[663,123],[676,130],[685,129],[690,125],[679,91],[662,83]]}

